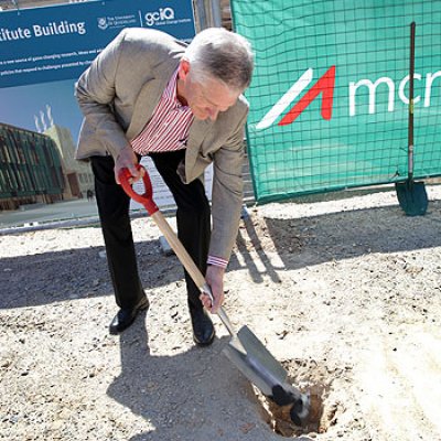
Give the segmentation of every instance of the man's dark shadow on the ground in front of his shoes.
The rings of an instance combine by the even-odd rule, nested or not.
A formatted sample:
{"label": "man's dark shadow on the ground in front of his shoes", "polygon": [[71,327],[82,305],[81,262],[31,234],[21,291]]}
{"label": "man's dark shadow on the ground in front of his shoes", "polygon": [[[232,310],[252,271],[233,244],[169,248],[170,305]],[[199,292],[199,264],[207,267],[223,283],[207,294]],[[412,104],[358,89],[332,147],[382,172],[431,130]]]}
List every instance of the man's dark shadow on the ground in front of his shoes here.
{"label": "man's dark shadow on the ground in front of his shoes", "polygon": [[216,338],[211,347],[155,356],[142,320],[120,336],[121,374],[107,395],[152,427],[130,441],[254,439],[241,428],[259,419],[256,396],[220,354],[225,344]]}

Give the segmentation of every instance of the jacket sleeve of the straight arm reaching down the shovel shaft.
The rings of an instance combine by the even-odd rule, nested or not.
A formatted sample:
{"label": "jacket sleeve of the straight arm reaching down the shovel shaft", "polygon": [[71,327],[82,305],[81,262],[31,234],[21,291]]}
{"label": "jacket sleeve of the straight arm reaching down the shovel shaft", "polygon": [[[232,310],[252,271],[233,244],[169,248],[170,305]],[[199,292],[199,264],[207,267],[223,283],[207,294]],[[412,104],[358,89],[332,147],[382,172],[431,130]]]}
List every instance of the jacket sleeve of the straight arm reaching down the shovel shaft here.
{"label": "jacket sleeve of the straight arm reaching down the shovel shaft", "polygon": [[233,135],[215,153],[213,161],[212,217],[209,256],[229,260],[236,241],[244,196],[244,136],[248,110]]}

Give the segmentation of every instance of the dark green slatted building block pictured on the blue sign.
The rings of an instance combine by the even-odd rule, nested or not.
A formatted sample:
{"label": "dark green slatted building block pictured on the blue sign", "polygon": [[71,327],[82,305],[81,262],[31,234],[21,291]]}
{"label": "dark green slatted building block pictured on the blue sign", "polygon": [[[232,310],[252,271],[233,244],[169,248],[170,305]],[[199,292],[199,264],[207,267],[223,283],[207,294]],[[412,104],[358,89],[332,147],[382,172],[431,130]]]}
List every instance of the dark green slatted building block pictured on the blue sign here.
{"label": "dark green slatted building block pictured on the blue sign", "polygon": [[62,201],[64,190],[55,142],[46,135],[0,123],[0,209]]}

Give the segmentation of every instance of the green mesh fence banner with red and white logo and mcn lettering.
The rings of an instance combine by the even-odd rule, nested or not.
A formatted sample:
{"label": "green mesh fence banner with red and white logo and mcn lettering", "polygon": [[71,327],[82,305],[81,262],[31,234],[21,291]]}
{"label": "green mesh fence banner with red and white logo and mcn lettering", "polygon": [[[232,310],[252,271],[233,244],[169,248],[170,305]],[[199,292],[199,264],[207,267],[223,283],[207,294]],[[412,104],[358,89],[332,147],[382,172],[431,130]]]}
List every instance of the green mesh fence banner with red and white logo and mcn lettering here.
{"label": "green mesh fence banner with red and white logo and mcn lettering", "polygon": [[441,1],[232,0],[251,41],[247,138],[259,202],[405,181],[410,23],[415,178],[441,174]]}

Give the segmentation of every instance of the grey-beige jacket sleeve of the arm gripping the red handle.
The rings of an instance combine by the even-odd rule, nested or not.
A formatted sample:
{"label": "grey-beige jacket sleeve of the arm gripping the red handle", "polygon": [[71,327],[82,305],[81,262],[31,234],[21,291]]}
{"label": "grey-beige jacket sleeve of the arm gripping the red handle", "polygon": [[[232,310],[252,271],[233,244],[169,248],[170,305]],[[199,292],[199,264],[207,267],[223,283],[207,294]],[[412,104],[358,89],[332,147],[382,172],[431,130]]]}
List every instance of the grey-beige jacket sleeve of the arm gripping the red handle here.
{"label": "grey-beige jacket sleeve of the arm gripping the red handle", "polygon": [[110,42],[75,85],[75,96],[85,117],[82,130],[92,131],[114,158],[128,143],[125,131],[112,112],[116,75],[125,36],[126,31],[122,31]]}

